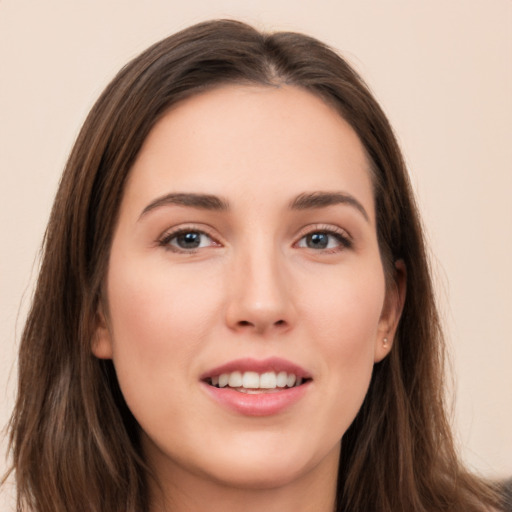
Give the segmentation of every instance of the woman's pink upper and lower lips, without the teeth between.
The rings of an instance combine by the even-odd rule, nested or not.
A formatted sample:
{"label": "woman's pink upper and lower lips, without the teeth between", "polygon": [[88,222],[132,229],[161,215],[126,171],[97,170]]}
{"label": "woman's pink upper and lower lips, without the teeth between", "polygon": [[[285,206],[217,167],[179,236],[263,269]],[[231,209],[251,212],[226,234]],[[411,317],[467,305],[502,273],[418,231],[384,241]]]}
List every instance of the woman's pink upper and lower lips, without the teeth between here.
{"label": "woman's pink upper and lower lips, without the teeth between", "polygon": [[308,380],[300,386],[293,388],[248,394],[227,387],[216,388],[206,382],[206,379],[210,377],[233,371],[253,371],[258,373],[269,371],[278,373],[284,371],[294,373],[297,377],[302,377],[303,379],[311,379],[311,376],[304,368],[280,358],[264,360],[237,359],[205,372],[201,376],[201,385],[205,392],[222,407],[245,416],[271,416],[278,414],[304,397],[311,385],[311,380]]}

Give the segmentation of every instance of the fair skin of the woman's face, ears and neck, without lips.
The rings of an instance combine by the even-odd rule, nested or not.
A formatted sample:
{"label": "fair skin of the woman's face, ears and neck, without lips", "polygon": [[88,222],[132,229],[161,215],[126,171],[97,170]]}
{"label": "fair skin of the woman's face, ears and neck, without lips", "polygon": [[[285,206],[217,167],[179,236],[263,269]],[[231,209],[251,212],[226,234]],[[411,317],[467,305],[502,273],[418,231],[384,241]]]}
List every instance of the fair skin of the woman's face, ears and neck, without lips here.
{"label": "fair skin of the woman's face, ears and neck, without lips", "polygon": [[[290,208],[317,192],[361,208]],[[155,204],[170,193],[229,208]],[[176,229],[205,234],[184,249]],[[332,511],[341,438],[400,316],[396,274],[386,288],[363,147],[321,99],[230,85],[169,111],[131,170],[92,347],[140,424],[152,512]],[[312,376],[278,414],[227,410],[201,385],[228,361],[272,356]]]}

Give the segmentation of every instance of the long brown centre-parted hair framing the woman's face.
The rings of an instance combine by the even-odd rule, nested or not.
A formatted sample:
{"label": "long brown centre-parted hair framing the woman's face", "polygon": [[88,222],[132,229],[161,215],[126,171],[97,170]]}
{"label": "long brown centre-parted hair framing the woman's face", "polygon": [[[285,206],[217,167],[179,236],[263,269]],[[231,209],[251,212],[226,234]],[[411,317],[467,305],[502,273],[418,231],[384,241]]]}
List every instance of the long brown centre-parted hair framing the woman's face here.
{"label": "long brown centre-parted hair framing the woman's face", "polygon": [[407,170],[381,108],[354,70],[319,41],[264,34],[236,21],[202,23],[124,67],[71,152],[44,240],[21,339],[11,450],[18,510],[140,512],[148,469],[138,426],[110,361],[91,354],[124,184],[169,107],[219,84],[291,84],[334,106],[372,163],[377,234],[387,275],[407,268],[391,353],[375,365],[342,441],[337,510],[482,511],[495,490],[456,456],[445,414],[444,345]]}

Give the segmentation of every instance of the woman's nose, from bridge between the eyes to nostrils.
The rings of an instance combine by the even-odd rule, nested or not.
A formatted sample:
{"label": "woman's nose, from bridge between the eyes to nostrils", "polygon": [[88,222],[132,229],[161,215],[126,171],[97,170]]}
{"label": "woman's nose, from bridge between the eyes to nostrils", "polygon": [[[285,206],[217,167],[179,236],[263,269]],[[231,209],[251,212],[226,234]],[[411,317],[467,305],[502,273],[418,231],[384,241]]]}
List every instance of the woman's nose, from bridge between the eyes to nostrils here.
{"label": "woman's nose, from bridge between the eyes to nostrils", "polygon": [[293,289],[283,256],[263,244],[234,258],[226,323],[259,335],[288,331],[296,320]]}

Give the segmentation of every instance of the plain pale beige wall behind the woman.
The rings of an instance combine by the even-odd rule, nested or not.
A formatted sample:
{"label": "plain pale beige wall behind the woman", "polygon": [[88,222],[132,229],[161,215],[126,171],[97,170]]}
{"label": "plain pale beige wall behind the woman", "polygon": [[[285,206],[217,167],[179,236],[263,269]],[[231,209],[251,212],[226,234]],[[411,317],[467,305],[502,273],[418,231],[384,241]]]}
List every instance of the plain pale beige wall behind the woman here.
{"label": "plain pale beige wall behind the woman", "polygon": [[374,90],[435,254],[461,451],[484,474],[512,475],[512,0],[0,0],[0,423],[38,247],[84,116],[128,59],[212,17],[317,36]]}

